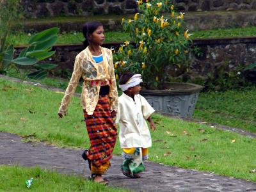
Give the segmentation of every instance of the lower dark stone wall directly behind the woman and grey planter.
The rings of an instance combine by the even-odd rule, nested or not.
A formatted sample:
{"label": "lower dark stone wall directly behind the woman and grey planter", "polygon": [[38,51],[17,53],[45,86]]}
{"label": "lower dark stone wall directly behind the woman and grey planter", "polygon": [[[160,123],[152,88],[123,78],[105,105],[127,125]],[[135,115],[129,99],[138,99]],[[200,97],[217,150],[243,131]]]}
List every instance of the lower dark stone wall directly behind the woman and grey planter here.
{"label": "lower dark stone wall directly behind the woman and grey planter", "polygon": [[[256,61],[256,38],[222,38],[194,40],[193,45],[199,48],[200,56],[192,56],[189,79],[207,79],[209,74],[216,75],[223,65],[229,71],[241,65],[245,66]],[[119,44],[105,44],[104,47],[117,47]],[[76,55],[83,50],[82,45],[55,46],[56,54],[49,60],[58,63],[55,72],[58,75],[67,75],[72,72]],[[19,51],[20,49],[18,49]],[[182,77],[184,74],[169,67],[166,71],[172,77]]]}

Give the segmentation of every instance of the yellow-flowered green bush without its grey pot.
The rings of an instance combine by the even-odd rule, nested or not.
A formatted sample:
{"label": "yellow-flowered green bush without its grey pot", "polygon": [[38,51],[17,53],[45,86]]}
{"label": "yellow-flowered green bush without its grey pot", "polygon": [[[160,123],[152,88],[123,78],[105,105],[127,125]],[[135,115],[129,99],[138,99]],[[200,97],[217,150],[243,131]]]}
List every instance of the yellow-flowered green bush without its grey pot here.
{"label": "yellow-flowered green bush without its grey pot", "polygon": [[166,81],[166,67],[184,68],[188,61],[188,30],[183,29],[184,13],[176,13],[167,0],[138,1],[140,13],[122,19],[126,41],[114,54],[116,78],[122,72],[143,75],[146,88],[161,89]]}

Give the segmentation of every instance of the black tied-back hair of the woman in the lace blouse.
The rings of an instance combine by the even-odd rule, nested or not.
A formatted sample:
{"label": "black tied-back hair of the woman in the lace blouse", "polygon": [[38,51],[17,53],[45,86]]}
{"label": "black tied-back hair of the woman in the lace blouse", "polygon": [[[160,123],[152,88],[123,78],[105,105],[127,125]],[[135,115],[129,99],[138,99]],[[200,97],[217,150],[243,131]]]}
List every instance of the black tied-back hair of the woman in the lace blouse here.
{"label": "black tied-back hair of the woman in the lace blouse", "polygon": [[85,38],[83,42],[84,48],[86,48],[89,45],[89,42],[90,42],[89,35],[92,34],[97,28],[99,28],[99,26],[103,26],[103,25],[98,21],[89,21],[83,25],[83,35]]}

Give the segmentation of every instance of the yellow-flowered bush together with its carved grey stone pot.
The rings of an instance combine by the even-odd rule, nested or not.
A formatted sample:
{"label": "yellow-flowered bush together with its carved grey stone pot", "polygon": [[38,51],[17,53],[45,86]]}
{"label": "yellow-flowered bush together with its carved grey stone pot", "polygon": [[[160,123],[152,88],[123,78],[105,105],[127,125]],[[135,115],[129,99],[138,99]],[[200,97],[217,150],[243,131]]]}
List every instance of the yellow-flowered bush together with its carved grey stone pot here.
{"label": "yellow-flowered bush together with its carved grey stone pot", "polygon": [[141,74],[141,95],[161,113],[191,117],[198,92],[196,84],[168,83],[167,68],[188,70],[189,31],[183,28],[184,13],[176,13],[170,1],[138,1],[139,12],[122,19],[126,41],[114,54],[116,78],[125,70]]}

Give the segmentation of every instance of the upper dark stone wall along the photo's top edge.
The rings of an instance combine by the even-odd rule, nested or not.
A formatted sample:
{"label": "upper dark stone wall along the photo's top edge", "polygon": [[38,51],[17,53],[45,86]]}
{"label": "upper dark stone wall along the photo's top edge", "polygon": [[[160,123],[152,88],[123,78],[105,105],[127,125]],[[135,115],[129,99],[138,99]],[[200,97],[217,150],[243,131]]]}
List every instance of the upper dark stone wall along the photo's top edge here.
{"label": "upper dark stone wall along the photo's top edge", "polygon": [[[135,0],[22,0],[26,17],[134,13]],[[178,11],[248,10],[256,0],[175,0]]]}

